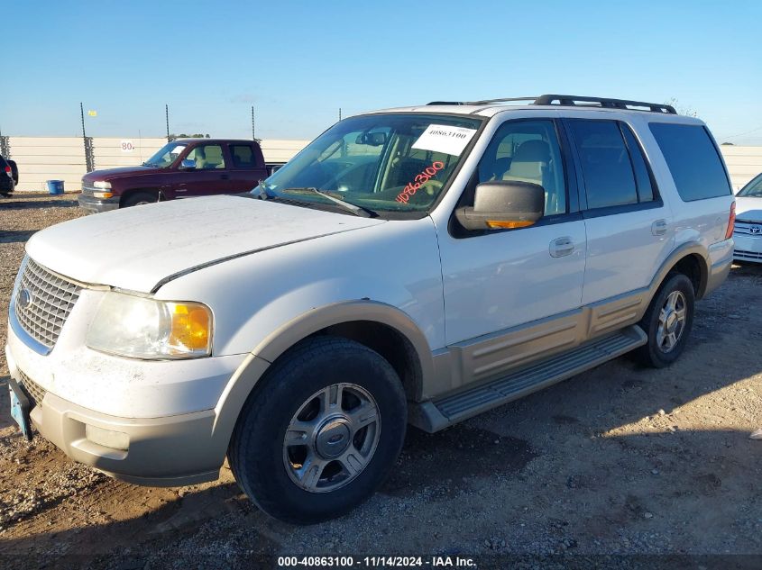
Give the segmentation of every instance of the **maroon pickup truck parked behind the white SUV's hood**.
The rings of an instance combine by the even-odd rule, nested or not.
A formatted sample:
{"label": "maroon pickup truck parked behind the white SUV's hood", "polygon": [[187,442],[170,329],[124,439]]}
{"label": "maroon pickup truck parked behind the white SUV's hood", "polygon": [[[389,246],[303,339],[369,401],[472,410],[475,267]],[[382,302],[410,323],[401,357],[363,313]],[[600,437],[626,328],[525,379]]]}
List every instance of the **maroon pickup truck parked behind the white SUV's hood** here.
{"label": "maroon pickup truck parked behind the white SUV's hood", "polygon": [[175,198],[235,194],[251,190],[278,166],[265,164],[253,140],[172,140],[139,167],[82,176],[78,202],[88,212],[106,212]]}

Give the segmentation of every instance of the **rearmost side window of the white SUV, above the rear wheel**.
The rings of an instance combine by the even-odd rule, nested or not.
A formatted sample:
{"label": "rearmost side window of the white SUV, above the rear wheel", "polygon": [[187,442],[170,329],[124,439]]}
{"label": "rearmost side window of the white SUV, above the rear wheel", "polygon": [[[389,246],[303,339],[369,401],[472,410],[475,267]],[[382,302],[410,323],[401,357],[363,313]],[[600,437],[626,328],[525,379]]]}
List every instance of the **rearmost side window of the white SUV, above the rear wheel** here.
{"label": "rearmost side window of the white SUV, above the rear wheel", "polygon": [[731,195],[720,153],[701,125],[650,123],[684,202]]}

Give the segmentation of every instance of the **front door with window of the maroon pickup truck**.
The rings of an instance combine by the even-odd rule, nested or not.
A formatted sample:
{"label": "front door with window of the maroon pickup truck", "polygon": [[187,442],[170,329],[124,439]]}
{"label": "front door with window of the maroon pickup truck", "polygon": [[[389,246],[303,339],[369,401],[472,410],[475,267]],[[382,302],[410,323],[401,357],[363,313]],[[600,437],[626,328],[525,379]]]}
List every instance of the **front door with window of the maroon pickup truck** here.
{"label": "front door with window of the maroon pickup truck", "polygon": [[179,184],[175,186],[178,198],[206,196],[235,192],[231,185],[229,157],[220,142],[198,144],[179,164]]}

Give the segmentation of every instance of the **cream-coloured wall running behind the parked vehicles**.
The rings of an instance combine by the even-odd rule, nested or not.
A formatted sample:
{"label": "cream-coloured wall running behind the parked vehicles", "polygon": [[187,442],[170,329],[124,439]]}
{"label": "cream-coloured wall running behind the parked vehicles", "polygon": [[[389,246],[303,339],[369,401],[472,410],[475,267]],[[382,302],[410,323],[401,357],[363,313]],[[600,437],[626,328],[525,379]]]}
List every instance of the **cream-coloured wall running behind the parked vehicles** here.
{"label": "cream-coloured wall running behind the parked vehicles", "polygon": [[[80,189],[86,172],[85,147],[78,137],[9,137],[11,156],[19,165],[18,190],[40,191],[46,180],[63,180],[69,191]],[[165,139],[94,138],[96,169],[139,165],[156,152]],[[287,162],[308,140],[262,140],[267,162]],[[762,172],[762,147],[721,146],[734,190]]]}

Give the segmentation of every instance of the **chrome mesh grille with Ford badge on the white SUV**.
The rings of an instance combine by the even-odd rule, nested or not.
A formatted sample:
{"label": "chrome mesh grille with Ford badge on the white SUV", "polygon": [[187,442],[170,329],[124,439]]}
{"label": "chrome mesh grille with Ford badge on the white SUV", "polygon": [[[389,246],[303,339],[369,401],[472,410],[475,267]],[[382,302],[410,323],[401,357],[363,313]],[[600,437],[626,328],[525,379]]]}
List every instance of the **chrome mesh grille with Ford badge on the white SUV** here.
{"label": "chrome mesh grille with Ford badge on the white SUV", "polygon": [[[23,290],[29,292],[30,303],[26,306],[19,303]],[[81,290],[79,285],[50,273],[32,258],[26,258],[14,293],[16,320],[32,339],[53,348]]]}

